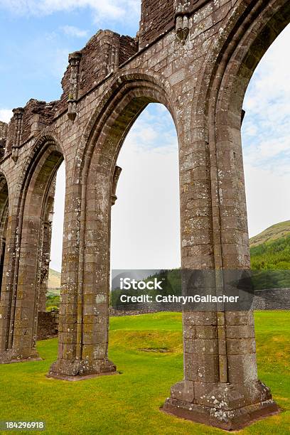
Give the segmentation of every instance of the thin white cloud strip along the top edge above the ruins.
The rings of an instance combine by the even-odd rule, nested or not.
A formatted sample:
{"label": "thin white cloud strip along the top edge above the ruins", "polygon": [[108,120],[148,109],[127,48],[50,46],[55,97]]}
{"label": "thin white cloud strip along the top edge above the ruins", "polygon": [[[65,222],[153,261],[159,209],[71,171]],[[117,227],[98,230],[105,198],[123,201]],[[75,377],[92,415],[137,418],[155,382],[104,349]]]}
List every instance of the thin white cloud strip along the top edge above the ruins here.
{"label": "thin white cloud strip along the top edge above the ruins", "polygon": [[59,11],[90,8],[96,21],[120,18],[130,12],[139,14],[139,0],[0,0],[0,6],[14,14],[50,15]]}

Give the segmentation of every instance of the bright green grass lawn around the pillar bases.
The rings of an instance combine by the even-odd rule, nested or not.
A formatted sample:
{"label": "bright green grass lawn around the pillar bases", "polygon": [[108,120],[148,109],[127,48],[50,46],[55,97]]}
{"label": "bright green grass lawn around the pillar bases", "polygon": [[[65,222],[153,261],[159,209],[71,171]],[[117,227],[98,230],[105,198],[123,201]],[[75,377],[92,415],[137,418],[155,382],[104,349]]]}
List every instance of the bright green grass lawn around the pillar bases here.
{"label": "bright green grass lawn around the pillar bases", "polygon": [[[240,434],[287,434],[290,313],[259,311],[255,318],[259,377],[283,412]],[[43,420],[45,433],[53,435],[225,433],[159,410],[171,385],[183,377],[181,331],[179,313],[111,318],[109,358],[122,375],[82,382],[45,377],[57,340],[38,342],[43,361],[0,365],[0,420]]]}

